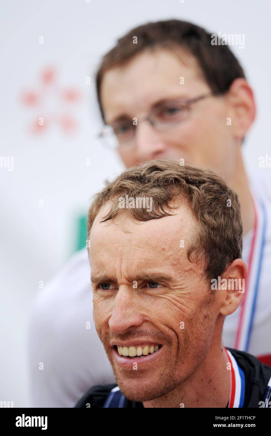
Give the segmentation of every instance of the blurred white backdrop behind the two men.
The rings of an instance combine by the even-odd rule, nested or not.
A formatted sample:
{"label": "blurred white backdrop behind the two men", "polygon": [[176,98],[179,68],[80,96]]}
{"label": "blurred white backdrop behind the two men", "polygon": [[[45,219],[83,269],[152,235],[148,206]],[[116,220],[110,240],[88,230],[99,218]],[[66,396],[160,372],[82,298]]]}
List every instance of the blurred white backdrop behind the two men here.
{"label": "blurred white backdrop behind the two men", "polygon": [[[86,85],[86,77],[93,77],[101,55],[117,37],[147,21],[178,18],[211,33],[244,34],[245,47],[231,49],[258,103],[257,119],[244,147],[248,170],[254,171],[258,157],[271,152],[271,3],[9,0],[0,9],[0,156],[14,159],[13,171],[0,168],[0,400],[28,407],[26,332],[39,281],[45,286],[70,256],[75,217],[87,212],[90,196],[106,177],[124,168],[95,139],[101,121],[93,81]],[[42,85],[48,68],[55,71],[50,86]],[[65,89],[76,91],[79,99],[65,103]],[[34,94],[26,104],[22,96],[29,92]],[[37,94],[37,104],[31,106]],[[64,114],[78,124],[74,133],[65,133],[57,121]],[[30,127],[39,117],[51,122],[33,134]]]}

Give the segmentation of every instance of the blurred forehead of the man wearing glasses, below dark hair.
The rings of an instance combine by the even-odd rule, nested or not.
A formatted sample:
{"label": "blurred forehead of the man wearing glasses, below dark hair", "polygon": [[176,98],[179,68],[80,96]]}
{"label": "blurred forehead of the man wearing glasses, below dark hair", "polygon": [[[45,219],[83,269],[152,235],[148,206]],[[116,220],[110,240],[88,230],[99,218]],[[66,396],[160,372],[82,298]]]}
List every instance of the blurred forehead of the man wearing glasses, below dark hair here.
{"label": "blurred forehead of the man wearing glasses, below dark hair", "polygon": [[[180,85],[180,78],[185,78]],[[197,61],[191,54],[181,51],[157,49],[144,51],[127,64],[111,68],[104,74],[101,85],[101,102],[107,122],[125,114],[133,107],[147,111],[159,101],[181,97],[190,98],[200,77]],[[129,98],[127,98],[129,95]]]}

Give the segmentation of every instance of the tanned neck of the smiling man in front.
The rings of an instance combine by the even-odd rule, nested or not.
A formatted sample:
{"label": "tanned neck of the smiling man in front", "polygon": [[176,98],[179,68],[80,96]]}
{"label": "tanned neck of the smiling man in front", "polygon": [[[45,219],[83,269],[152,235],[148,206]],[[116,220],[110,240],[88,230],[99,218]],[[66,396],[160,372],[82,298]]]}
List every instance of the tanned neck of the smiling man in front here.
{"label": "tanned neck of the smiling man in front", "polygon": [[227,407],[231,392],[231,371],[223,347],[210,350],[187,380],[161,398],[143,402],[144,407]]}

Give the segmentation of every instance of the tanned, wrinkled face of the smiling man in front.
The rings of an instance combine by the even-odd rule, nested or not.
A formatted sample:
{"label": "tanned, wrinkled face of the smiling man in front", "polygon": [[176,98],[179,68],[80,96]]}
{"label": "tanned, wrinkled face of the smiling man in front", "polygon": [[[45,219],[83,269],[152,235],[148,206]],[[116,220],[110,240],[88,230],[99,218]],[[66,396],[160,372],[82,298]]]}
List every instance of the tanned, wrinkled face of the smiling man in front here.
{"label": "tanned, wrinkled face of the smiling man in front", "polygon": [[[96,329],[121,392],[134,401],[160,398],[193,374],[219,314],[204,266],[186,256],[195,220],[185,205],[174,212],[114,224],[99,222],[102,210],[90,234]],[[117,346],[133,357],[121,357]],[[144,349],[151,354],[134,355]]]}

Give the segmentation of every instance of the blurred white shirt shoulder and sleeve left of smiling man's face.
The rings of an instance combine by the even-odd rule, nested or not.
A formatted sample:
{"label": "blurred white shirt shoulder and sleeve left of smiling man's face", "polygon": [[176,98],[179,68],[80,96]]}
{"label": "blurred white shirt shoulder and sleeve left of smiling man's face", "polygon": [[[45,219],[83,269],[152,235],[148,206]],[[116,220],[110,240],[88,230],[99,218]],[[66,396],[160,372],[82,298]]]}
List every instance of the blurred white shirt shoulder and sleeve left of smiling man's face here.
{"label": "blurred white shirt shoulder and sleeve left of smiling man's face", "polygon": [[115,382],[95,329],[92,297],[85,248],[40,290],[33,305],[28,339],[31,407],[74,407],[91,386]]}

